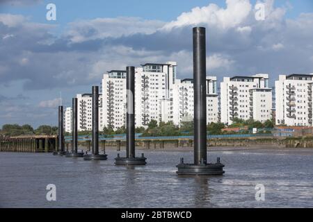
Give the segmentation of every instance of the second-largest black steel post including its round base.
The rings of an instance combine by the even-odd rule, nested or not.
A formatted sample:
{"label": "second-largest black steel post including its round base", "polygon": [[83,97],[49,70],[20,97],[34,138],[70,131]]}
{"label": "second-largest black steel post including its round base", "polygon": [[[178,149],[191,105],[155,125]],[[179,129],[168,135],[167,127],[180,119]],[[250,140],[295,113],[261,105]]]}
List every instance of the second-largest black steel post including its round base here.
{"label": "second-largest black steel post including its round base", "polygon": [[116,165],[145,165],[147,158],[135,157],[135,67],[126,67],[127,135],[126,158],[115,158]]}

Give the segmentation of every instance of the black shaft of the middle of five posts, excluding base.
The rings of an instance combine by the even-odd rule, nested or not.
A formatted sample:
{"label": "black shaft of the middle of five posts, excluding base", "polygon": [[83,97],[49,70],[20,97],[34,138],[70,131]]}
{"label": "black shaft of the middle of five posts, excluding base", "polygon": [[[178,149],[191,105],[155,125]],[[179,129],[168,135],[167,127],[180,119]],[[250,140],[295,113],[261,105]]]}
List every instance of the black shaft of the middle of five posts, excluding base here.
{"label": "black shaft of the middle of five posts, excluding base", "polygon": [[93,155],[99,154],[99,87],[93,86]]}

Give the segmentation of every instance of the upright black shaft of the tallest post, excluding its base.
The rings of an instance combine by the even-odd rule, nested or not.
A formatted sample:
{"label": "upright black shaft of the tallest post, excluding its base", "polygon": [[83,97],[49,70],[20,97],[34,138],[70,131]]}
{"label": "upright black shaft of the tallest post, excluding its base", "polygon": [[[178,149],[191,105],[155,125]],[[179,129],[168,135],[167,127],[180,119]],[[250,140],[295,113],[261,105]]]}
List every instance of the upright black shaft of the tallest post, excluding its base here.
{"label": "upright black shaft of the tallest post, excluding its base", "polygon": [[205,28],[193,28],[194,164],[207,163],[207,65]]}

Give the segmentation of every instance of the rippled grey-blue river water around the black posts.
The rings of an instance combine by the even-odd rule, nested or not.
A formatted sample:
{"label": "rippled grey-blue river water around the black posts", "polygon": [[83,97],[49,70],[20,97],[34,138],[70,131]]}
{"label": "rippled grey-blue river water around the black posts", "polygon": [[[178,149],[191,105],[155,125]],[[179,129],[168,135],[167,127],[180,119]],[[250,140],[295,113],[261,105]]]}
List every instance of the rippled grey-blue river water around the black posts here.
{"label": "rippled grey-blue river water around the black posts", "polygon": [[[0,207],[313,207],[313,149],[215,148],[224,176],[177,176],[179,157],[191,151],[145,150],[145,167],[115,167],[108,160],[0,153]],[[141,151],[137,152],[140,155]],[[121,152],[121,156],[125,153]],[[46,186],[56,185],[56,201]],[[265,200],[255,200],[255,186]]]}

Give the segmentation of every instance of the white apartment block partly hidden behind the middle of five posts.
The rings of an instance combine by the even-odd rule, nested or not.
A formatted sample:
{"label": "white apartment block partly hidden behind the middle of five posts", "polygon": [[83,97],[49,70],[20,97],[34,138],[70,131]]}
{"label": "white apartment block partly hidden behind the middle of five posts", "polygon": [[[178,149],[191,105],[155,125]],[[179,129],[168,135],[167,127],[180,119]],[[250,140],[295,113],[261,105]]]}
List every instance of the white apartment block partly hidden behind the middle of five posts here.
{"label": "white apartment block partly hidden behind the middle of five posts", "polygon": [[[77,130],[93,129],[93,94],[77,94]],[[99,130],[104,127],[102,116],[102,94],[99,94]]]}

